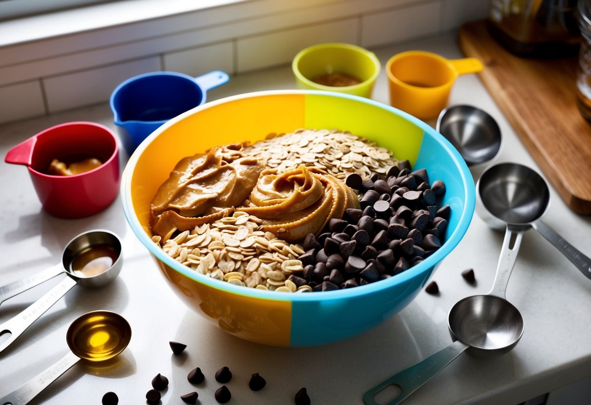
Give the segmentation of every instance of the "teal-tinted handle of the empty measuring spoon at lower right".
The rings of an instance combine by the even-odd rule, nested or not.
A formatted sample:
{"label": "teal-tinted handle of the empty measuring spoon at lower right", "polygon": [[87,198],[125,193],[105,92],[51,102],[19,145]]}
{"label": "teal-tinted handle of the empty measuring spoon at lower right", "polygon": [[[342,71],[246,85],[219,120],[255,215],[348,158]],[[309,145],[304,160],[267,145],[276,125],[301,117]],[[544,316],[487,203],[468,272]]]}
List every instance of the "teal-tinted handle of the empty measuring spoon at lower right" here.
{"label": "teal-tinted handle of the empty measuring spoon at lower right", "polygon": [[425,360],[408,367],[406,370],[392,375],[388,380],[385,380],[381,384],[378,384],[371,390],[367,391],[363,394],[363,402],[365,402],[366,405],[382,405],[382,403],[375,401],[375,395],[384,388],[395,385],[401,388],[402,392],[385,405],[400,404],[410,394],[414,393],[417,388],[435,377],[435,375],[450,364],[450,362],[456,360],[456,358],[466,351],[467,348],[469,348],[469,346],[460,341],[453,342],[448,347],[441,349],[427,357]]}

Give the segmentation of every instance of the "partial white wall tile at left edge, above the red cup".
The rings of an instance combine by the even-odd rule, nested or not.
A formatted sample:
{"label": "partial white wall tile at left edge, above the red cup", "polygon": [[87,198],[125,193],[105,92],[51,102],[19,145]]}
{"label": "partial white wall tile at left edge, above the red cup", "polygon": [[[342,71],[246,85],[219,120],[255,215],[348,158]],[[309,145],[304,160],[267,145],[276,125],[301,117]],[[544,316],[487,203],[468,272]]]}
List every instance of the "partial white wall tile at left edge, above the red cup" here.
{"label": "partial white wall tile at left edge, above the red cup", "polygon": [[0,123],[46,113],[39,80],[0,87]]}

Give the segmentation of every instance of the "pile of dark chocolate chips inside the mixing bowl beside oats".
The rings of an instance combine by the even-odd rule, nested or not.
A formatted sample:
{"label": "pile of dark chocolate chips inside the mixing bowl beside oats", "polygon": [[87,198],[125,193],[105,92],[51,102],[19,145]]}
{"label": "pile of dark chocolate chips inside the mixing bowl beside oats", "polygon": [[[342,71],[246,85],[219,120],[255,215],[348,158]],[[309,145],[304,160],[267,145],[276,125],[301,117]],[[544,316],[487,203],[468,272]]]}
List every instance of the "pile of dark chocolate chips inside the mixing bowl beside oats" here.
{"label": "pile of dark chocolate chips inside the mixing bowl beside oats", "polygon": [[427,171],[411,171],[408,161],[392,166],[383,177],[350,174],[346,184],[359,190],[361,209],[332,218],[318,238],[306,236],[298,259],[296,286],[328,291],[364,285],[404,272],[441,247],[450,207],[437,207],[446,188],[429,183]]}

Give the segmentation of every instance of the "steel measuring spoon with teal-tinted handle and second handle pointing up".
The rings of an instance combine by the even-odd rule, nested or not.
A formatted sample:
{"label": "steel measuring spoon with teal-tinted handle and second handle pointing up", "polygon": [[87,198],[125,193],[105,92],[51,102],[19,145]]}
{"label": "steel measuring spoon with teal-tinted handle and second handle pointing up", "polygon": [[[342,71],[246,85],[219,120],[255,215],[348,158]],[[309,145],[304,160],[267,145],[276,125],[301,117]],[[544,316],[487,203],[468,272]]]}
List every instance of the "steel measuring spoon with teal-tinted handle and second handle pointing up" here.
{"label": "steel measuring spoon with teal-tinted handle and second handle pointing up", "polygon": [[397,386],[402,392],[385,405],[401,403],[465,351],[476,357],[492,357],[517,345],[524,321],[518,309],[506,301],[505,291],[520,244],[521,234],[512,239],[507,232],[491,291],[466,297],[450,309],[447,328],[454,342],[367,391],[363,395],[366,405],[382,405],[375,401],[375,396],[390,386]]}

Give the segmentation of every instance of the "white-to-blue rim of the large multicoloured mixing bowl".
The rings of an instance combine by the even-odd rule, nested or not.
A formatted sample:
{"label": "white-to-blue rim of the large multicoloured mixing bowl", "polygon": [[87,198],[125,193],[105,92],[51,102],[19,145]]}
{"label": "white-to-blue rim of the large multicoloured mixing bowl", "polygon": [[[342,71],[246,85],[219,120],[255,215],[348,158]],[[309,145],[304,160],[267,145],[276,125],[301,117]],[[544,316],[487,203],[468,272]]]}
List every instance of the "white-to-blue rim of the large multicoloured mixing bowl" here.
{"label": "white-to-blue rim of the large multicoloured mixing bowl", "polygon": [[[451,155],[453,161],[456,163],[456,166],[460,169],[460,175],[463,180],[463,183],[466,185],[464,187],[464,197],[465,197],[465,204],[463,207],[463,211],[460,213],[460,218],[457,223],[456,229],[453,233],[449,236],[449,238],[441,245],[439,249],[436,250],[435,253],[431,254],[431,256],[427,257],[427,259],[423,260],[423,262],[417,264],[416,266],[410,267],[410,269],[405,270],[404,272],[390,277],[386,280],[380,280],[379,282],[369,283],[363,286],[358,286],[355,288],[347,288],[347,289],[339,289],[333,291],[323,291],[323,292],[314,292],[314,293],[277,293],[274,291],[256,289],[256,288],[248,288],[245,286],[238,286],[232,285],[228,282],[213,279],[212,277],[208,277],[197,273],[195,270],[190,269],[190,267],[184,266],[183,264],[177,262],[176,260],[172,259],[168,254],[164,252],[157,244],[152,241],[151,237],[144,231],[144,227],[139,223],[137,216],[135,215],[134,211],[131,207],[131,171],[135,167],[139,156],[147,148],[150,142],[157,138],[160,133],[164,132],[164,130],[168,129],[170,126],[174,125],[176,122],[183,120],[185,117],[193,115],[201,110],[206,110],[209,108],[216,107],[220,104],[233,102],[236,100],[248,99],[252,97],[260,97],[260,96],[285,96],[291,94],[316,94],[319,96],[328,96],[328,97],[340,97],[346,99],[356,100],[362,103],[368,103],[372,106],[378,107],[379,109],[389,110],[404,119],[410,121],[414,125],[417,125],[424,132],[428,132],[431,136],[434,136],[436,140],[443,146],[444,149]],[[187,112],[182,113],[174,117],[171,120],[168,120],[164,125],[160,126],[157,130],[152,132],[142,143],[135,149],[134,153],[129,157],[127,164],[125,165],[125,169],[121,176],[121,201],[124,208],[125,218],[128,221],[129,226],[131,227],[132,231],[134,232],[135,236],[141,241],[141,243],[148,249],[148,251],[155,257],[155,259],[160,260],[163,264],[170,267],[177,273],[188,277],[191,280],[194,280],[197,283],[201,283],[206,285],[210,288],[215,288],[217,290],[223,290],[228,293],[237,294],[241,296],[247,296],[249,298],[256,298],[256,299],[265,299],[268,301],[287,301],[287,302],[306,302],[306,301],[322,301],[323,299],[348,299],[348,298],[355,298],[364,295],[371,295],[372,293],[380,292],[382,290],[387,290],[389,288],[394,287],[395,285],[400,285],[402,283],[408,282],[409,280],[421,275],[425,272],[431,271],[431,269],[439,264],[444,257],[447,256],[452,250],[459,244],[460,240],[467,231],[467,228],[472,221],[473,213],[475,210],[475,203],[476,203],[476,189],[474,187],[474,182],[472,178],[472,174],[469,171],[466,162],[460,156],[459,152],[453,147],[452,143],[447,141],[439,132],[433,129],[427,123],[421,121],[417,117],[414,117],[402,110],[399,110],[395,107],[388,106],[386,104],[376,102],[371,99],[367,99],[361,96],[354,96],[352,94],[346,93],[336,93],[336,92],[325,92],[323,90],[265,90],[261,92],[251,92],[251,93],[243,93],[237,94],[235,96],[224,97],[219,100],[215,100],[212,102],[208,102],[202,104],[200,106],[194,107]],[[427,278],[424,280],[427,282]]]}

